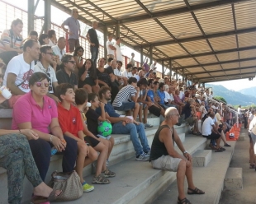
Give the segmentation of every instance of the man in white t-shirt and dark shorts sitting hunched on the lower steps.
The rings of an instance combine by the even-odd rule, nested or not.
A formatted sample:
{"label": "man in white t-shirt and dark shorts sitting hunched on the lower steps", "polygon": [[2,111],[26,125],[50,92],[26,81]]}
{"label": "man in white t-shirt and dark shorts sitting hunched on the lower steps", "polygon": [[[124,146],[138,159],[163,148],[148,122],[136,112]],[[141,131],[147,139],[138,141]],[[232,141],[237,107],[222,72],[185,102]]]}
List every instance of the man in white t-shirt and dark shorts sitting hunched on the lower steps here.
{"label": "man in white t-shirt and dark shorts sitting hunched on the lower steps", "polygon": [[202,136],[206,137],[207,139],[216,140],[216,152],[224,151],[224,148],[220,146],[220,133],[218,132],[215,124],[214,119],[215,114],[211,112],[208,118],[202,123],[201,132]]}

